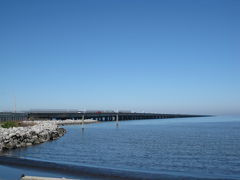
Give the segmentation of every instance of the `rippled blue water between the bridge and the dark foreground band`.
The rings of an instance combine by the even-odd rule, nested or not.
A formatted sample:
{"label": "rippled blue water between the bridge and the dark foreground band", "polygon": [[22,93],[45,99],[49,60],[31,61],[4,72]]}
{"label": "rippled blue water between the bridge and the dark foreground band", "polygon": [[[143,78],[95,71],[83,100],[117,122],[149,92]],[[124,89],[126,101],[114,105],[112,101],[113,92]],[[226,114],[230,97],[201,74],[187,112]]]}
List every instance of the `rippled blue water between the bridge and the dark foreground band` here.
{"label": "rippled blue water between the bridge and the dark foreground band", "polygon": [[57,141],[11,155],[78,165],[240,179],[240,117],[65,126]]}

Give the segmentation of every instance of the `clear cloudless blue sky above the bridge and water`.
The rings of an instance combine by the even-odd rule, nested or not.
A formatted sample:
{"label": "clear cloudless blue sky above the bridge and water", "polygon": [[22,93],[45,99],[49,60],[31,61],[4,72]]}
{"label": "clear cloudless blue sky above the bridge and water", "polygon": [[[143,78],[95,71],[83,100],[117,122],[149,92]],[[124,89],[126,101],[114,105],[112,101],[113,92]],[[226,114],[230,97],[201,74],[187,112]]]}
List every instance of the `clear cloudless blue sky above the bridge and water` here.
{"label": "clear cloudless blue sky above the bridge and water", "polygon": [[0,0],[0,111],[240,114],[239,0]]}

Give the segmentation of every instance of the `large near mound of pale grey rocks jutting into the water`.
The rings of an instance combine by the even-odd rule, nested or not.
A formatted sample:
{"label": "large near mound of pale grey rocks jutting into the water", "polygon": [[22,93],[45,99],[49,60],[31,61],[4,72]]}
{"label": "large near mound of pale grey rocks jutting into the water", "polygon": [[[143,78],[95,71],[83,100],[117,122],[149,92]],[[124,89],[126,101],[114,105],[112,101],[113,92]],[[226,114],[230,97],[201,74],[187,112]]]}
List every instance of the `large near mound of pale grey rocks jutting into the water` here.
{"label": "large near mound of pale grey rocks jutting into the water", "polygon": [[0,151],[15,149],[55,140],[66,133],[57,123],[38,121],[27,127],[0,127]]}

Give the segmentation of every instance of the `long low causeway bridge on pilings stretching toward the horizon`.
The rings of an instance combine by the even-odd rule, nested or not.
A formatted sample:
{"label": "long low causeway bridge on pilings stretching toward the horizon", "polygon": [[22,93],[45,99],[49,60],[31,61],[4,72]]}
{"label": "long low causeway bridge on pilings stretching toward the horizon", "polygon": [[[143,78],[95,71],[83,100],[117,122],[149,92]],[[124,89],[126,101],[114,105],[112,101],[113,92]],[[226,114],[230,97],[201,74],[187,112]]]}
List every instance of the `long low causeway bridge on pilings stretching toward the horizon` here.
{"label": "long low causeway bridge on pilings stretching toward the horizon", "polygon": [[139,119],[166,119],[166,118],[187,118],[202,117],[202,115],[187,114],[158,114],[158,113],[131,113],[131,112],[25,112],[25,113],[0,113],[0,121],[18,121],[18,120],[47,120],[47,119],[94,119],[98,121],[118,120],[139,120]]}

